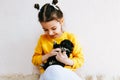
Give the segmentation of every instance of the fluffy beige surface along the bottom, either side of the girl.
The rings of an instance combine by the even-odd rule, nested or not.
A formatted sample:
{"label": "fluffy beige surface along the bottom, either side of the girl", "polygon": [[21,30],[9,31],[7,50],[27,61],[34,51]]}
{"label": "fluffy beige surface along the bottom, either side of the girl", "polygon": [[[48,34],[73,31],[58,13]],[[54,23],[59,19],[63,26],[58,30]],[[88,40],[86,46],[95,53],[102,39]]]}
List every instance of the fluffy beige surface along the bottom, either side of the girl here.
{"label": "fluffy beige surface along the bottom, either side of the girl", "polygon": [[[78,73],[77,73],[78,74]],[[84,74],[80,75],[83,80],[120,80],[120,76],[110,76],[110,75],[103,75],[103,74]],[[39,80],[39,74],[8,74],[8,75],[0,75],[0,80]]]}

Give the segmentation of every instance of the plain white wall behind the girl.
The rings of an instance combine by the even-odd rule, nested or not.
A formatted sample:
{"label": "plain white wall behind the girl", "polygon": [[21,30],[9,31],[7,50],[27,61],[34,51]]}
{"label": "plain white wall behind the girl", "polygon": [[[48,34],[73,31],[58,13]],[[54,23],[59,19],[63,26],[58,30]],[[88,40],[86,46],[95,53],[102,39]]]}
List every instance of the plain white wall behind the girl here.
{"label": "plain white wall behind the girl", "polygon": [[[34,3],[51,0],[0,0],[0,74],[32,73],[31,56],[43,32]],[[83,46],[87,73],[120,74],[120,0],[59,0],[65,28]]]}

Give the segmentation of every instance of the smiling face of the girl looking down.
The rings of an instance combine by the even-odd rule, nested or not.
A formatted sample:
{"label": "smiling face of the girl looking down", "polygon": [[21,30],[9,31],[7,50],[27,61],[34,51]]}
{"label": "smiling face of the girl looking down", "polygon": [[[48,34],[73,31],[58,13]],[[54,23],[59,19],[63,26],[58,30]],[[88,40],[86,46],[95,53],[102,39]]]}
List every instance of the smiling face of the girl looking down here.
{"label": "smiling face of the girl looking down", "polygon": [[63,21],[59,22],[57,20],[41,22],[45,34],[49,35],[51,38],[58,38],[62,35],[62,24]]}

